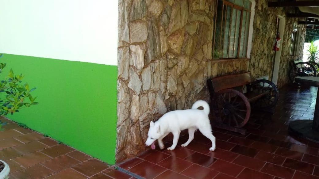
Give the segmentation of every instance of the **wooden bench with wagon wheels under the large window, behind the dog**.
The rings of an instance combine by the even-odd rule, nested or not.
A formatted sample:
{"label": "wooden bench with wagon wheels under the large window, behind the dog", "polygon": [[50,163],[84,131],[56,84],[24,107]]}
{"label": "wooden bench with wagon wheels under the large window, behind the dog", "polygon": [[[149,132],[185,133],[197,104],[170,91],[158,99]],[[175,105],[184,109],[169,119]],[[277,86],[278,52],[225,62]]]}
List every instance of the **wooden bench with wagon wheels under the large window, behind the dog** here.
{"label": "wooden bench with wagon wheels under the large window, behind the dog", "polygon": [[275,107],[279,98],[278,88],[273,82],[253,82],[250,72],[209,79],[207,85],[215,125],[242,134],[245,133],[242,127],[250,117],[251,104],[253,109],[269,111]]}

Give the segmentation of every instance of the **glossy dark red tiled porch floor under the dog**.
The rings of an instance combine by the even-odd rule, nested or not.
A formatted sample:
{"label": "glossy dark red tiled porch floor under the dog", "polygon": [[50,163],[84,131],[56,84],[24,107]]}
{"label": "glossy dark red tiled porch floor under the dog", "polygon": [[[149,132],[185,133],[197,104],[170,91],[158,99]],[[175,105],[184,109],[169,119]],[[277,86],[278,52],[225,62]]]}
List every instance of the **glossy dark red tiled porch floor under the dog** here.
{"label": "glossy dark red tiled porch floor under the dog", "polygon": [[209,151],[211,142],[196,132],[188,147],[149,150],[119,167],[150,179],[319,179],[319,144],[288,133],[290,121],[313,118],[316,92],[313,87],[280,89],[275,114],[252,113],[245,135],[213,129],[214,152]]}

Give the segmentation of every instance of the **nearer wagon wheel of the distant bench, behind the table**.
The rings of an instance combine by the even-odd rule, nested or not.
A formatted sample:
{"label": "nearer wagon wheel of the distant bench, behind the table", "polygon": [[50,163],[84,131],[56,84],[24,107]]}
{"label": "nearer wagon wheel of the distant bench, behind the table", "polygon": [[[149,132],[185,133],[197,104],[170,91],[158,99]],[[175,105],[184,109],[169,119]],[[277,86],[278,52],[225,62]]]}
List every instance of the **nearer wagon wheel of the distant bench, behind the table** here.
{"label": "nearer wagon wheel of the distant bench, behind the table", "polygon": [[289,79],[294,81],[296,76],[317,76],[316,69],[313,65],[307,62],[296,63],[289,70]]}

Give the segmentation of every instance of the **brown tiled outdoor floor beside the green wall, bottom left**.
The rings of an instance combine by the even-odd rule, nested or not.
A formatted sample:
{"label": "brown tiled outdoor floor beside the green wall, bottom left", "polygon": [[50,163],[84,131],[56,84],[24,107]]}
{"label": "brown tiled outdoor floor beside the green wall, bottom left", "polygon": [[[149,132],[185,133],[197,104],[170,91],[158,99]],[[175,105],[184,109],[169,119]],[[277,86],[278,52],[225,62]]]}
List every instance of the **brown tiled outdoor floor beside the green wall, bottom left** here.
{"label": "brown tiled outdoor floor beside the green wall, bottom left", "polygon": [[8,122],[0,132],[0,159],[10,179],[128,179],[132,176],[55,140]]}

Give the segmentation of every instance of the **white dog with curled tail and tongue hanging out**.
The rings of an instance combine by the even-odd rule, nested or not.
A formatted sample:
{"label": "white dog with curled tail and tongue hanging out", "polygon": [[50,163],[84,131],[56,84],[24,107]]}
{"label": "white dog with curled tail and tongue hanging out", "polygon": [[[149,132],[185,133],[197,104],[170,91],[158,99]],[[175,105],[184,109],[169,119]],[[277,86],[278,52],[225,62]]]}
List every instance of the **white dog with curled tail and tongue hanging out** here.
{"label": "white dog with curled tail and tongue hanging out", "polygon": [[[197,108],[200,106],[204,110],[198,110]],[[162,139],[172,132],[174,135],[173,145],[168,147],[167,150],[174,150],[181,131],[188,129],[189,139],[182,144],[182,147],[186,147],[194,139],[194,132],[199,129],[204,136],[211,140],[212,146],[209,150],[214,151],[216,148],[215,137],[211,132],[208,114],[209,105],[202,100],[196,101],[192,109],[167,112],[155,123],[151,121],[145,144],[146,146],[152,145],[152,149],[155,149],[155,141],[157,140],[159,147],[163,149],[165,146]]]}

